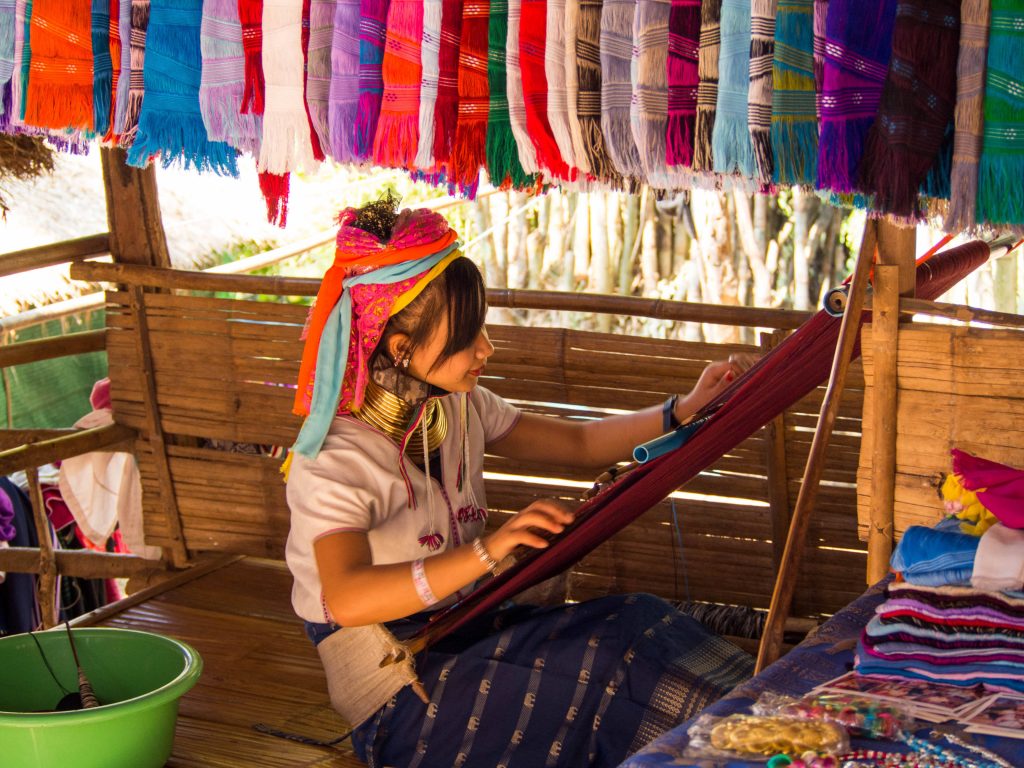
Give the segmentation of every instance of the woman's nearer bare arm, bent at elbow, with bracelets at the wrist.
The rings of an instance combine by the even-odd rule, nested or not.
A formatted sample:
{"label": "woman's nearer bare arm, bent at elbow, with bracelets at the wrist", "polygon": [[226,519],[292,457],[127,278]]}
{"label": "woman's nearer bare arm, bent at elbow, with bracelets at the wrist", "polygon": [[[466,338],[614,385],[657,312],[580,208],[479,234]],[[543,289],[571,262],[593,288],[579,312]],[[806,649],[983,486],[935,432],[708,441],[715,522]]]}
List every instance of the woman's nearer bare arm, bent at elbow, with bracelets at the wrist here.
{"label": "woman's nearer bare arm, bent at elbow, with bracelets at the wrist", "polygon": [[[567,507],[545,499],[534,502],[481,541],[494,559],[502,560],[520,545],[547,547],[535,528],[559,534],[571,521],[572,512]],[[366,534],[330,534],[313,543],[313,552],[328,610],[342,627],[390,622],[426,607],[413,582],[412,563],[374,565]],[[430,591],[438,600],[487,571],[468,544],[428,557],[423,564]]]}

